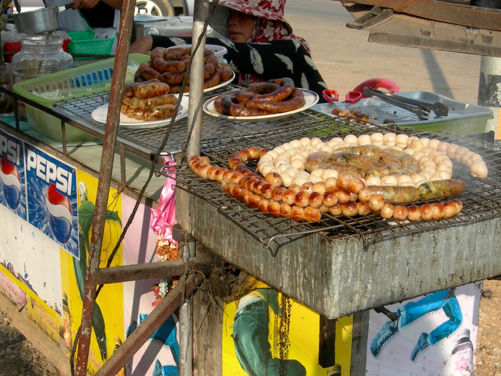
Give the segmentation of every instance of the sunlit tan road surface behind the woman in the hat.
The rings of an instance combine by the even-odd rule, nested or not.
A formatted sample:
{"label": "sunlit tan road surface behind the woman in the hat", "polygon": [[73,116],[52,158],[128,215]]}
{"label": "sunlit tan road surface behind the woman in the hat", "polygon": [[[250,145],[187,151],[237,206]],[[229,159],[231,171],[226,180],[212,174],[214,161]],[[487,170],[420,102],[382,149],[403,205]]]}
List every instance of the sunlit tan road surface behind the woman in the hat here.
{"label": "sunlit tan road surface behind the woman in the hat", "polygon": [[369,43],[368,31],[348,29],[351,15],[332,0],[288,0],[285,18],[312,49],[322,77],[341,98],[373,77],[400,91],[431,91],[476,104],[480,56]]}

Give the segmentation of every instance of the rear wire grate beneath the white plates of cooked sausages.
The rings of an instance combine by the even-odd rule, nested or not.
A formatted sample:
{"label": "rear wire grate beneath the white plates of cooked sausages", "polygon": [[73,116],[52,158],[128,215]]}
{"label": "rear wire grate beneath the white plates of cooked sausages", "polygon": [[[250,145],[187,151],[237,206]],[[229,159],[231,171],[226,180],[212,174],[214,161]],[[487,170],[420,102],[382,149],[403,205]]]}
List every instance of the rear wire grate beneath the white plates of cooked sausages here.
{"label": "rear wire grate beneath the white plates of cooked sausages", "polygon": [[[228,85],[218,90],[214,90],[204,95],[204,101],[216,95],[239,90],[237,86]],[[83,95],[71,98],[54,105],[54,111],[75,119],[78,123],[99,134],[104,135],[104,123],[92,119],[92,111],[97,107],[109,102],[109,91],[103,91],[95,94]],[[321,137],[326,132],[336,128],[338,132],[354,132],[366,129],[359,124],[348,123],[343,119],[333,118],[329,115],[307,110],[294,114],[282,120],[264,121],[260,123],[244,123],[233,120],[219,119],[214,116],[203,114],[202,118],[202,140],[219,141],[228,139],[235,141],[242,135],[260,135],[270,141],[270,145],[283,143],[288,137],[304,137],[304,135]],[[145,129],[125,129],[120,128],[117,140],[132,148],[138,155],[155,154],[157,148],[162,143],[167,126]],[[388,129],[388,128],[385,128]],[[174,123],[174,127],[169,136],[164,152],[176,154],[181,151],[182,144],[187,138],[187,118],[180,119]],[[204,142],[202,141],[202,142]],[[242,147],[245,146],[242,143]]]}

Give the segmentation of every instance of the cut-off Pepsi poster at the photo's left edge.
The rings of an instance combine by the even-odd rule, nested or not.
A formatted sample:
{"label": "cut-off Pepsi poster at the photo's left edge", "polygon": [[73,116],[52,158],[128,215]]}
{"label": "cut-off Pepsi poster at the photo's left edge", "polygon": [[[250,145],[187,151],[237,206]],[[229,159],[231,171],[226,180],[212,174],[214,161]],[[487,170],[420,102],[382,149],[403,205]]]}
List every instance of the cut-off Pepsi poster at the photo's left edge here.
{"label": "cut-off Pepsi poster at the photo's left edge", "polygon": [[0,204],[27,220],[23,141],[0,130]]}

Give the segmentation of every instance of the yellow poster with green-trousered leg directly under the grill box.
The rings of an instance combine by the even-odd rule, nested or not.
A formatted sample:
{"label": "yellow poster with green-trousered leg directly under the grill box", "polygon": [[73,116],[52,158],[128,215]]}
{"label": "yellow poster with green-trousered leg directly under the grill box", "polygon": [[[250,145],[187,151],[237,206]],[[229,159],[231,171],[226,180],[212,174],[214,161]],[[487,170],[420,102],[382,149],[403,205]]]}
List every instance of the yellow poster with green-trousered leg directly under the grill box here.
{"label": "yellow poster with green-trousered leg directly under the grill box", "polygon": [[[352,324],[352,317],[336,324],[342,376],[350,374]],[[326,376],[328,369],[318,364],[319,332],[317,312],[274,289],[258,288],[224,305],[222,375]]]}

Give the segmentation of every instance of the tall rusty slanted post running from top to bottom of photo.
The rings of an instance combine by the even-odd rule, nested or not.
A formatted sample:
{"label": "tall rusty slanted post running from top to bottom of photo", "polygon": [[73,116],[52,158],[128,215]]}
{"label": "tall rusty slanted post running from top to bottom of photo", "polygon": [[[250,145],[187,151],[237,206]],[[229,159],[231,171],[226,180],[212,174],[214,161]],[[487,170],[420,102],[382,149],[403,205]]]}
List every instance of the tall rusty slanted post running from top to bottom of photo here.
{"label": "tall rusty slanted post running from top to bottom of photo", "polygon": [[125,71],[127,70],[135,3],[135,0],[123,0],[120,15],[117,52],[115,63],[113,64],[113,78],[111,80],[110,104],[108,107],[108,116],[106,118],[101,166],[99,168],[96,210],[92,222],[91,249],[89,250],[87,275],[85,277],[82,321],[75,369],[76,376],[86,376],[87,374],[92,317],[96,300],[95,274],[99,269],[99,261],[101,259],[102,239],[106,221],[111,175],[113,172],[113,159],[117,141],[118,123],[120,120],[120,104],[122,103],[121,98],[125,82]]}

